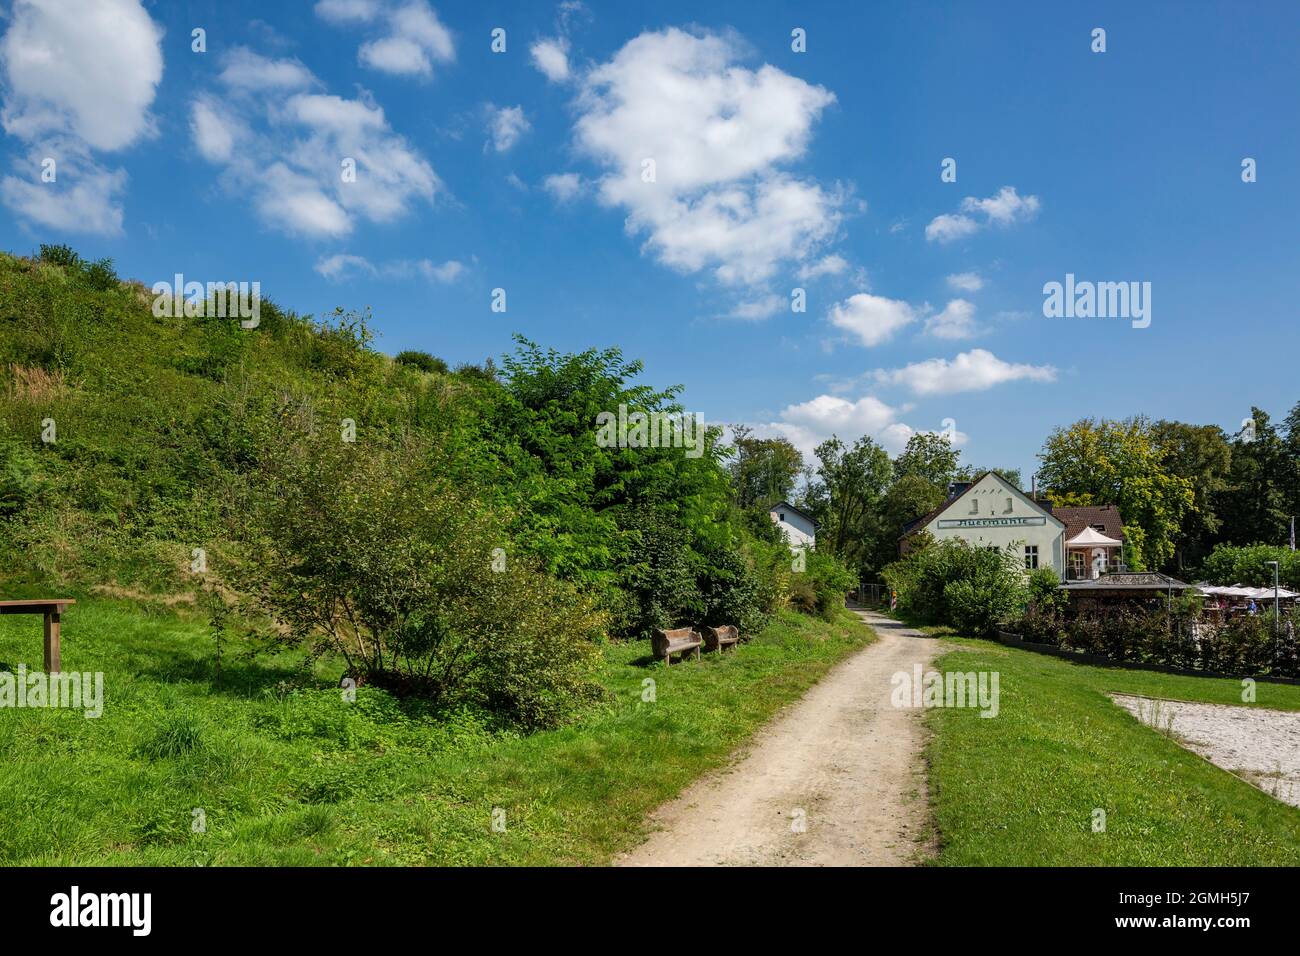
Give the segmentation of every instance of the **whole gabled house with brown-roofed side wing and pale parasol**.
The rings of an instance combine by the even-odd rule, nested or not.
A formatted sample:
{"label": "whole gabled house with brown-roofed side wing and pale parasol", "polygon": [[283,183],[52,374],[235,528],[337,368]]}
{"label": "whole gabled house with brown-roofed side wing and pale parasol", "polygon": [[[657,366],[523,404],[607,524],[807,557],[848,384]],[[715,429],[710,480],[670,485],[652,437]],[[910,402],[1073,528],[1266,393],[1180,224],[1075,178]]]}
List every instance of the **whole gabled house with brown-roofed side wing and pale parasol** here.
{"label": "whole gabled house with brown-roofed side wing and pale parasol", "polygon": [[936,541],[1011,549],[1026,570],[1050,567],[1061,580],[1123,570],[1123,524],[1113,505],[1053,509],[992,471],[953,483],[948,492],[942,505],[904,529],[900,554],[926,531]]}

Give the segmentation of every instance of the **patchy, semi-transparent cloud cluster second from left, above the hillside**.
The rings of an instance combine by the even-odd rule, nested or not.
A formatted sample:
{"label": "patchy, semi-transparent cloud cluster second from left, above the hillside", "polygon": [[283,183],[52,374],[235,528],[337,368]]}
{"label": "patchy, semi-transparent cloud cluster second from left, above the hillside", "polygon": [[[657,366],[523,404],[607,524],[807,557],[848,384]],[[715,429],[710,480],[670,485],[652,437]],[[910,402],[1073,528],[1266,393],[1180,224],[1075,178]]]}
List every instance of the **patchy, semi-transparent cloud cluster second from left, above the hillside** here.
{"label": "patchy, semi-transparent cloud cluster second from left, above the hillside", "polygon": [[[235,51],[233,61],[254,64],[244,53]],[[322,92],[268,98],[265,90],[247,86],[251,75],[287,82],[295,73],[286,66],[294,62],[222,72],[220,90],[191,103],[195,147],[222,166],[226,185],[250,196],[270,226],[307,237],[337,238],[358,219],[389,222],[413,203],[433,202],[442,189],[437,173],[390,129],[378,105]],[[294,83],[320,86],[309,73]],[[265,165],[266,156],[277,159]],[[344,160],[355,174],[347,174],[354,170]]]}

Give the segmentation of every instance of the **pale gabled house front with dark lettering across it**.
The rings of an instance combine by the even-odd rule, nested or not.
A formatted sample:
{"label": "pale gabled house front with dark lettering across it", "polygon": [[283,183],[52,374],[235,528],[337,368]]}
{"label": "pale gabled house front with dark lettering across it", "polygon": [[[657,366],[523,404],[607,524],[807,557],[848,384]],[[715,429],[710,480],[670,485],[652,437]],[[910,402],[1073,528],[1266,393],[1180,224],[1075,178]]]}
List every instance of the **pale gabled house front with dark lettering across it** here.
{"label": "pale gabled house front with dark lettering across it", "polygon": [[909,538],[927,531],[936,541],[962,538],[972,548],[1011,549],[1026,570],[1054,568],[1065,576],[1065,523],[996,472],[985,472],[935,511],[907,528]]}

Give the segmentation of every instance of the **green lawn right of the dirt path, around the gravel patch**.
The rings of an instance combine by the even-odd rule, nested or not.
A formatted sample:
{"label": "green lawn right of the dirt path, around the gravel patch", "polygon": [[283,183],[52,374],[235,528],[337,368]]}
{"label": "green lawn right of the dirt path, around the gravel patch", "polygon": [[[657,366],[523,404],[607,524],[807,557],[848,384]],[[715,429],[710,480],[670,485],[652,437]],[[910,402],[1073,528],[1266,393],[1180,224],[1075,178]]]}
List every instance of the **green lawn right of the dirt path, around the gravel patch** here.
{"label": "green lawn right of the dirt path, around the gravel patch", "polygon": [[[1106,696],[1240,705],[1239,682],[1086,667],[988,641],[956,646],[935,669],[997,671],[1001,706],[996,718],[928,711],[937,864],[1300,865],[1300,810]],[[1254,706],[1300,710],[1300,687],[1260,683]],[[1096,808],[1105,832],[1093,832]]]}

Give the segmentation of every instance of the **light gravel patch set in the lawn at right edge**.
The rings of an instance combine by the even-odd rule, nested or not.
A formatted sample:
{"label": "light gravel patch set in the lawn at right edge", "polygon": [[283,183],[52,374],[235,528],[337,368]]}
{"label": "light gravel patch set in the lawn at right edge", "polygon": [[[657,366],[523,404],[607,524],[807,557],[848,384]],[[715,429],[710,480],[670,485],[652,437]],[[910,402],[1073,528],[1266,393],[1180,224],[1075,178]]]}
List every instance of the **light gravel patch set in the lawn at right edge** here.
{"label": "light gravel patch set in the lawn at right edge", "polygon": [[1187,749],[1278,800],[1300,806],[1300,713],[1110,696],[1139,721],[1170,734]]}

